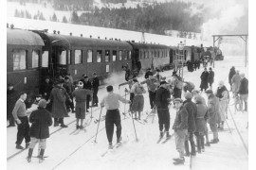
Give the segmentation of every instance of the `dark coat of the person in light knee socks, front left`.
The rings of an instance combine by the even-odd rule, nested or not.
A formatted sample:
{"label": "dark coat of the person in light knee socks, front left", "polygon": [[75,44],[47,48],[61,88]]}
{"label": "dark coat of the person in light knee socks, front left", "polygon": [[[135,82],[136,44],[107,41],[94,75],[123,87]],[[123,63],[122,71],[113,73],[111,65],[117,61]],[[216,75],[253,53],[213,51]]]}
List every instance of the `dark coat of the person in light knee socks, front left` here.
{"label": "dark coat of the person in light knee socks, front left", "polygon": [[30,137],[46,139],[49,137],[49,127],[52,125],[51,115],[45,108],[38,107],[38,110],[31,112],[29,122],[32,123]]}

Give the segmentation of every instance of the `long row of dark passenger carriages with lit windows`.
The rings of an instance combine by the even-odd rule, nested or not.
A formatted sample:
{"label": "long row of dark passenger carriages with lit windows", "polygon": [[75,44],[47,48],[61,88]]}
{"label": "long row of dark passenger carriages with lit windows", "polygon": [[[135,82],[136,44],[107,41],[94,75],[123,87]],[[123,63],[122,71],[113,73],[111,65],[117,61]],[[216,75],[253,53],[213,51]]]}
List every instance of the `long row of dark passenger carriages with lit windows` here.
{"label": "long row of dark passenger carriages with lit windows", "polygon": [[[185,46],[186,60],[200,59],[200,47]],[[7,82],[16,90],[39,93],[46,76],[55,79],[70,74],[74,80],[94,72],[101,83],[112,73],[129,67],[132,75],[147,68],[173,69],[179,56],[176,46],[156,43],[122,42],[100,38],[61,35],[46,30],[7,28]]]}

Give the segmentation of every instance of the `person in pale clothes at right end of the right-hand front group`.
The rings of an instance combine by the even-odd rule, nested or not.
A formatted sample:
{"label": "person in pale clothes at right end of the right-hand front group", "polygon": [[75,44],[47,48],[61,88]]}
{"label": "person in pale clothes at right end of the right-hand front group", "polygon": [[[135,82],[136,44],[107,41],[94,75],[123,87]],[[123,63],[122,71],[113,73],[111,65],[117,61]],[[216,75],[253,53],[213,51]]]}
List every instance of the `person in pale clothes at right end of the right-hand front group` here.
{"label": "person in pale clothes at right end of the right-hand front group", "polygon": [[220,111],[218,117],[218,127],[223,130],[224,129],[224,122],[228,117],[228,104],[229,104],[229,91],[224,85],[224,81],[219,82],[219,87],[217,88],[217,92],[215,94],[216,97],[219,99]]}

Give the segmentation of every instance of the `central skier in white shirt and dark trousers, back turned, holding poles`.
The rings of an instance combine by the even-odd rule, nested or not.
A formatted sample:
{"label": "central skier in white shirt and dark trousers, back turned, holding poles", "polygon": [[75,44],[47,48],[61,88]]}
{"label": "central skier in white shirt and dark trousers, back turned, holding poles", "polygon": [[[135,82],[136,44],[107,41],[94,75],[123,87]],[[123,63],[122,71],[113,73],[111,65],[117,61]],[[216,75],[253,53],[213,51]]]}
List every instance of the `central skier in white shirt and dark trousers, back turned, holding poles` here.
{"label": "central skier in white shirt and dark trousers, back turned, holding poles", "polygon": [[117,127],[117,143],[121,141],[121,121],[119,114],[119,101],[122,103],[131,103],[130,100],[125,100],[118,93],[113,93],[113,86],[107,86],[107,95],[101,100],[101,107],[105,107],[106,119],[105,128],[108,139],[108,147],[113,148],[112,139],[114,133],[114,124]]}

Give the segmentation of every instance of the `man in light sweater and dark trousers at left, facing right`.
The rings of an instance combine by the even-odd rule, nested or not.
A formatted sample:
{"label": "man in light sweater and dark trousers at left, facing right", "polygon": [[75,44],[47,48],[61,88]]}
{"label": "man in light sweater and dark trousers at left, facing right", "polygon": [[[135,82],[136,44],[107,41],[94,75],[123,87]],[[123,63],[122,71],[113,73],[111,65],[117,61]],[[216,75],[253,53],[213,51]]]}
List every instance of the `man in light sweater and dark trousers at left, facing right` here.
{"label": "man in light sweater and dark trousers at left, facing right", "polygon": [[25,138],[26,148],[30,142],[29,136],[29,124],[28,124],[28,117],[26,111],[25,100],[27,99],[27,93],[20,93],[20,98],[16,101],[15,107],[12,110],[12,115],[18,125],[18,132],[17,132],[17,140],[16,140],[16,148],[17,149],[24,149],[21,145],[23,139]]}

